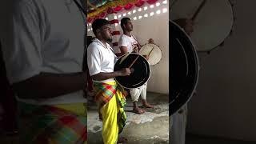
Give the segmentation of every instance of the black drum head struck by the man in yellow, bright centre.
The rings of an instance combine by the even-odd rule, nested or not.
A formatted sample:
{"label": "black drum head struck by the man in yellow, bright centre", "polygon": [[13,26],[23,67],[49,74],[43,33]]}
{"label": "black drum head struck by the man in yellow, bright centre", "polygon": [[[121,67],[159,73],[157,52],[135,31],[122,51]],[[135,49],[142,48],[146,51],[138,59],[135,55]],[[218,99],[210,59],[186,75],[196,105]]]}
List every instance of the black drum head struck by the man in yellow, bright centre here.
{"label": "black drum head struck by the man in yellow, bright centre", "polygon": [[[138,59],[134,62],[134,59],[137,57]],[[128,68],[132,62],[134,62],[134,65],[131,66],[131,69],[134,70],[133,73],[129,76],[115,78],[119,85],[127,89],[138,88],[145,84],[150,78],[149,63],[146,61],[146,58],[135,53],[122,55],[122,57],[115,63],[114,71],[121,70],[122,68]]]}

